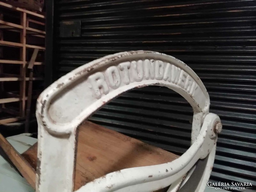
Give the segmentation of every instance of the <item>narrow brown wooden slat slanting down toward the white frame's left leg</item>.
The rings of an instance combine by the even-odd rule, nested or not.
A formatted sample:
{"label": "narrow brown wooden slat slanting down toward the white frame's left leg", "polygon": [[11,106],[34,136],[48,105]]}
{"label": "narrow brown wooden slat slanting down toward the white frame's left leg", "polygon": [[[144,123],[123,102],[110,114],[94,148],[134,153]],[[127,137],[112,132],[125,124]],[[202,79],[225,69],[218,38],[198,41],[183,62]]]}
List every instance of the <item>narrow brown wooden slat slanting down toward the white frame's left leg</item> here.
{"label": "narrow brown wooden slat slanting down toward the white frame's left leg", "polygon": [[28,162],[12,147],[12,145],[0,134],[0,146],[5,154],[11,159],[15,167],[25,177],[28,183],[35,188],[36,186],[36,172],[28,164]]}

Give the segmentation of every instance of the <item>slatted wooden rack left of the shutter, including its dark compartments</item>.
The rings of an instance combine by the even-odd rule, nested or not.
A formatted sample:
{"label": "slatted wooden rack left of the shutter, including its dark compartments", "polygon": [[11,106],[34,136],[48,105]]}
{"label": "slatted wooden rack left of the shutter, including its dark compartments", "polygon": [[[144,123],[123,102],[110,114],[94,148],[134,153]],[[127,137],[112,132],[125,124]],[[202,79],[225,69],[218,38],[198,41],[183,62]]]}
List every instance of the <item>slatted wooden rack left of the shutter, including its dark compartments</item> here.
{"label": "slatted wooden rack left of the shutter, including its dark compartments", "polygon": [[[26,116],[27,67],[36,48],[41,59],[37,57],[34,69],[37,71],[44,64],[45,16],[3,2],[0,7],[0,124],[7,124]],[[33,82],[43,79],[42,75],[33,76]],[[15,86],[16,90],[6,89]],[[41,91],[33,91],[32,99]]]}

